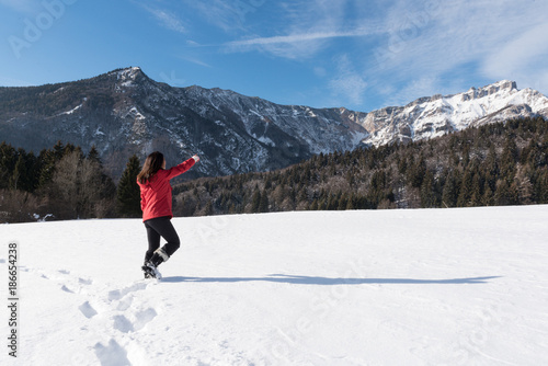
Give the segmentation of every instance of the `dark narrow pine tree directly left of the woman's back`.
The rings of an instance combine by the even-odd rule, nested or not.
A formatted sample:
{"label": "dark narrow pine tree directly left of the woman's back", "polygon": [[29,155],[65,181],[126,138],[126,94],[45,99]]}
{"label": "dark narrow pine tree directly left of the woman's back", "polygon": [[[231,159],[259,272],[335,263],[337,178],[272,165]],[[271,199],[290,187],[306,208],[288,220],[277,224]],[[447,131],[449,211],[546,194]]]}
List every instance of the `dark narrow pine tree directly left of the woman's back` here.
{"label": "dark narrow pine tree directly left of the woman's back", "polygon": [[139,217],[141,215],[140,190],[137,185],[137,175],[140,170],[139,159],[134,155],[129,158],[118,183],[117,202],[123,216]]}

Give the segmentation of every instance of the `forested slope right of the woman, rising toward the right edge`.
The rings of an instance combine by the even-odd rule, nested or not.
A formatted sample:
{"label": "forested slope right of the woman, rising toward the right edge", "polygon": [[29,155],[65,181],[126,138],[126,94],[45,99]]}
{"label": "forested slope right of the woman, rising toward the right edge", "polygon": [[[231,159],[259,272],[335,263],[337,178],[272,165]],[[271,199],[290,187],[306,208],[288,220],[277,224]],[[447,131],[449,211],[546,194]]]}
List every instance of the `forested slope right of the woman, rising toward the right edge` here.
{"label": "forested slope right of the woman, rising toward the right edge", "polygon": [[174,188],[178,216],[548,203],[548,123],[520,118],[439,138],[312,157]]}

